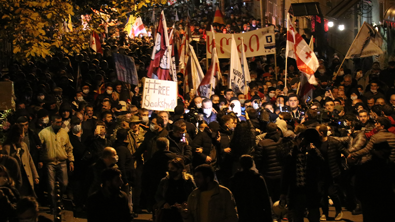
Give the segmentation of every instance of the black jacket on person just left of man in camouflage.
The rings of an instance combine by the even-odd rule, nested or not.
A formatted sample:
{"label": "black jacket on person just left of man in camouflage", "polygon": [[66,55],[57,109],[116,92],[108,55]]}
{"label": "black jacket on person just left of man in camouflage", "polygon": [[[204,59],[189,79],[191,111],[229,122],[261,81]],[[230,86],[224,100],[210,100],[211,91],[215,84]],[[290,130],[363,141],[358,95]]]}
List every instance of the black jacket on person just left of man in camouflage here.
{"label": "black jacket on person just left of man in camouflage", "polygon": [[113,147],[118,155],[118,170],[122,173],[123,184],[134,186],[134,161],[130,150],[127,148],[128,143],[116,140]]}

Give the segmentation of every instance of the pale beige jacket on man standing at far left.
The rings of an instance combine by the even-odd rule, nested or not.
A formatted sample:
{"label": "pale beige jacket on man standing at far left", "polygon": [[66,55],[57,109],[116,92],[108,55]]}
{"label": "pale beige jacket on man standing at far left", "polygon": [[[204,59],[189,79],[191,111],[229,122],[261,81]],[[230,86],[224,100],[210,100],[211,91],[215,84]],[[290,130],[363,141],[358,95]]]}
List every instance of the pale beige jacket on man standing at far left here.
{"label": "pale beige jacket on man standing at far left", "polygon": [[66,130],[60,129],[55,134],[52,126],[49,126],[41,130],[39,137],[43,148],[42,162],[59,164],[68,160],[70,164],[73,164],[73,146]]}

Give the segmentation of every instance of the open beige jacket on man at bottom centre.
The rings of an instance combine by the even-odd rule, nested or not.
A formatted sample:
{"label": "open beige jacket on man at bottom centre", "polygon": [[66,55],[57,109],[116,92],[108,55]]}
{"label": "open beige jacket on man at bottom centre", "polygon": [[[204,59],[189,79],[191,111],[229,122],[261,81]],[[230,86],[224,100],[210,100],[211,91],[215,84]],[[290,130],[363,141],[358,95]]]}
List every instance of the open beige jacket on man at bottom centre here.
{"label": "open beige jacket on man at bottom centre", "polygon": [[[200,189],[196,188],[188,197],[188,213],[184,222],[200,222],[199,199]],[[216,183],[214,193],[208,202],[209,218],[208,222],[237,222],[237,207],[232,192],[225,186]]]}

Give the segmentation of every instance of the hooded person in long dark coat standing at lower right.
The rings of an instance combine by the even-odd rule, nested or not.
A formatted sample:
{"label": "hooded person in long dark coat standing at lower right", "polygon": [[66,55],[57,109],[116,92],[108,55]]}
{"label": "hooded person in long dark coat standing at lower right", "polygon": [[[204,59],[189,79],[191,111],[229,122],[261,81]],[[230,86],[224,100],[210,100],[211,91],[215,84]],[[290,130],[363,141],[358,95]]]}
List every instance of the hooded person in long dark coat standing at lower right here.
{"label": "hooded person in long dark coat standing at lower right", "polygon": [[280,202],[286,202],[289,196],[288,210],[292,211],[294,222],[304,221],[306,208],[309,221],[319,221],[318,176],[324,158],[316,148],[319,145],[318,138],[316,129],[298,134],[295,146],[286,157],[281,175]]}

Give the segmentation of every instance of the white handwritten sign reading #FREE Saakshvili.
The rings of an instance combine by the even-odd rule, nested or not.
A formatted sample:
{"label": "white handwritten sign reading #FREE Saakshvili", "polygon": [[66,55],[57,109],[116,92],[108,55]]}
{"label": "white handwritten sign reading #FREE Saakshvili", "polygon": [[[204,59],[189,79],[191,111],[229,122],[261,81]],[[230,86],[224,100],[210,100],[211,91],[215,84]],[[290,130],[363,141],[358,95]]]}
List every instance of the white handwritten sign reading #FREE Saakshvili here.
{"label": "white handwritten sign reading #FREE Saakshvili", "polygon": [[146,78],[142,107],[148,110],[174,111],[177,106],[177,82]]}

